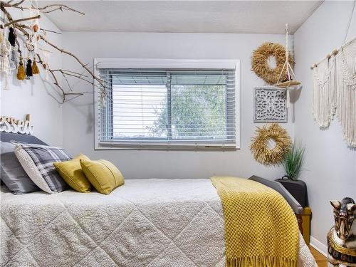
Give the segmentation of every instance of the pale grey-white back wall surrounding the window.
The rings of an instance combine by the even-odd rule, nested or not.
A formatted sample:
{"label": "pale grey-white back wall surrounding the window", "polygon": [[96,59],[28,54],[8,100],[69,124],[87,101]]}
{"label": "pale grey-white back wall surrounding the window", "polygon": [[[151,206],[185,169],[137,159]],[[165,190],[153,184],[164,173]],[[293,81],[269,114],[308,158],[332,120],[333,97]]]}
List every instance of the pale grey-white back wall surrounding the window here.
{"label": "pale grey-white back wall surrounding the window", "polygon": [[[93,58],[188,58],[239,59],[241,61],[241,150],[236,152],[173,152],[94,150],[93,95],[63,106],[63,145],[73,154],[83,152],[93,159],[109,159],[126,179],[207,178],[211,175],[269,179],[283,175],[281,167],[263,167],[253,159],[248,146],[253,123],[253,87],[263,85],[251,71],[251,53],[265,41],[284,43],[283,35],[205,33],[63,33],[63,46],[86,63]],[[63,68],[73,60],[63,58]],[[74,90],[91,91],[78,83]],[[293,124],[284,124],[293,137]]]}

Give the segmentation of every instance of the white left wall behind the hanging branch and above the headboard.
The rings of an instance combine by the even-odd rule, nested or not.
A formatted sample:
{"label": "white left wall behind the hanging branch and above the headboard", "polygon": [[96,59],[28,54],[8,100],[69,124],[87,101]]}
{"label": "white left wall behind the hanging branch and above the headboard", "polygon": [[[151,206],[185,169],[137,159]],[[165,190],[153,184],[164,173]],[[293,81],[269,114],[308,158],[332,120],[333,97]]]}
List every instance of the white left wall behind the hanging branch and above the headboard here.
{"label": "white left wall behind the hanging branch and above the headboard", "polygon": [[[14,18],[26,16],[12,10],[11,15]],[[49,30],[59,31],[46,16],[42,16],[41,26]],[[56,45],[61,46],[61,35],[48,33],[48,38]],[[27,55],[23,52],[23,56]],[[61,53],[53,53],[50,64],[51,68],[61,68]],[[26,67],[26,63],[24,63],[24,66]],[[39,65],[38,68],[41,76],[34,75],[31,80],[23,81],[16,79],[16,70],[14,70],[14,74],[9,77],[10,90],[3,90],[4,78],[1,77],[1,115],[23,120],[26,114],[31,114],[34,135],[48,144],[61,146],[63,142],[62,106],[58,103],[61,97],[51,83],[43,80],[45,76],[43,68]]]}

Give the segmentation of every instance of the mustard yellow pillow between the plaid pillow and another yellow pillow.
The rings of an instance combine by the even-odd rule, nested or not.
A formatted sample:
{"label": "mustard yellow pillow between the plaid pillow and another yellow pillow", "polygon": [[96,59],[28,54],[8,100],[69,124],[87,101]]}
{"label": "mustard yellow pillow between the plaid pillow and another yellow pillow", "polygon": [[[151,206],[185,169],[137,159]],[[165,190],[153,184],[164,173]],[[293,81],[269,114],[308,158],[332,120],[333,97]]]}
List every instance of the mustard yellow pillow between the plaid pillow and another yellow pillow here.
{"label": "mustard yellow pillow between the plaid pillow and another yellow pillow", "polygon": [[75,191],[89,193],[91,191],[91,184],[82,171],[80,159],[90,160],[87,156],[79,154],[74,159],[66,162],[53,162],[53,165],[63,180]]}

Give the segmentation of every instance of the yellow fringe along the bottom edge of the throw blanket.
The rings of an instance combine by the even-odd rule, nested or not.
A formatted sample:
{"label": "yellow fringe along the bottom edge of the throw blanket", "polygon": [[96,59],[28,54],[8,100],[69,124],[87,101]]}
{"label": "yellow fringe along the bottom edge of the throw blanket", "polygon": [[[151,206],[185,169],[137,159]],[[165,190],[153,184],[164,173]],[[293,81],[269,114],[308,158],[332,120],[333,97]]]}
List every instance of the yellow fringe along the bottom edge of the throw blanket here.
{"label": "yellow fringe along the bottom edge of the throw blanket", "polygon": [[297,267],[298,262],[290,258],[251,256],[226,258],[226,267]]}

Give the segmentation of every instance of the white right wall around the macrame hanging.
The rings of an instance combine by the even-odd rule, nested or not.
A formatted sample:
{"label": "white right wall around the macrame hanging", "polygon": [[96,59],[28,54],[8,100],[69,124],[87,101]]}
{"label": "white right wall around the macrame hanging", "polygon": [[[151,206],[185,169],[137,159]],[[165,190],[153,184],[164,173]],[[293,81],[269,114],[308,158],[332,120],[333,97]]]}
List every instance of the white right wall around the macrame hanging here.
{"label": "white right wall around the macrame hanging", "polygon": [[[347,148],[339,122],[320,130],[313,121],[313,75],[310,66],[344,42],[352,1],[325,1],[295,33],[296,75],[303,90],[295,104],[295,137],[306,146],[303,180],[308,184],[313,211],[312,236],[326,245],[326,234],[333,226],[330,199],[356,200],[356,150]],[[347,40],[356,36],[356,14]],[[317,242],[318,243],[318,242]],[[326,247],[322,247],[326,249]]]}

